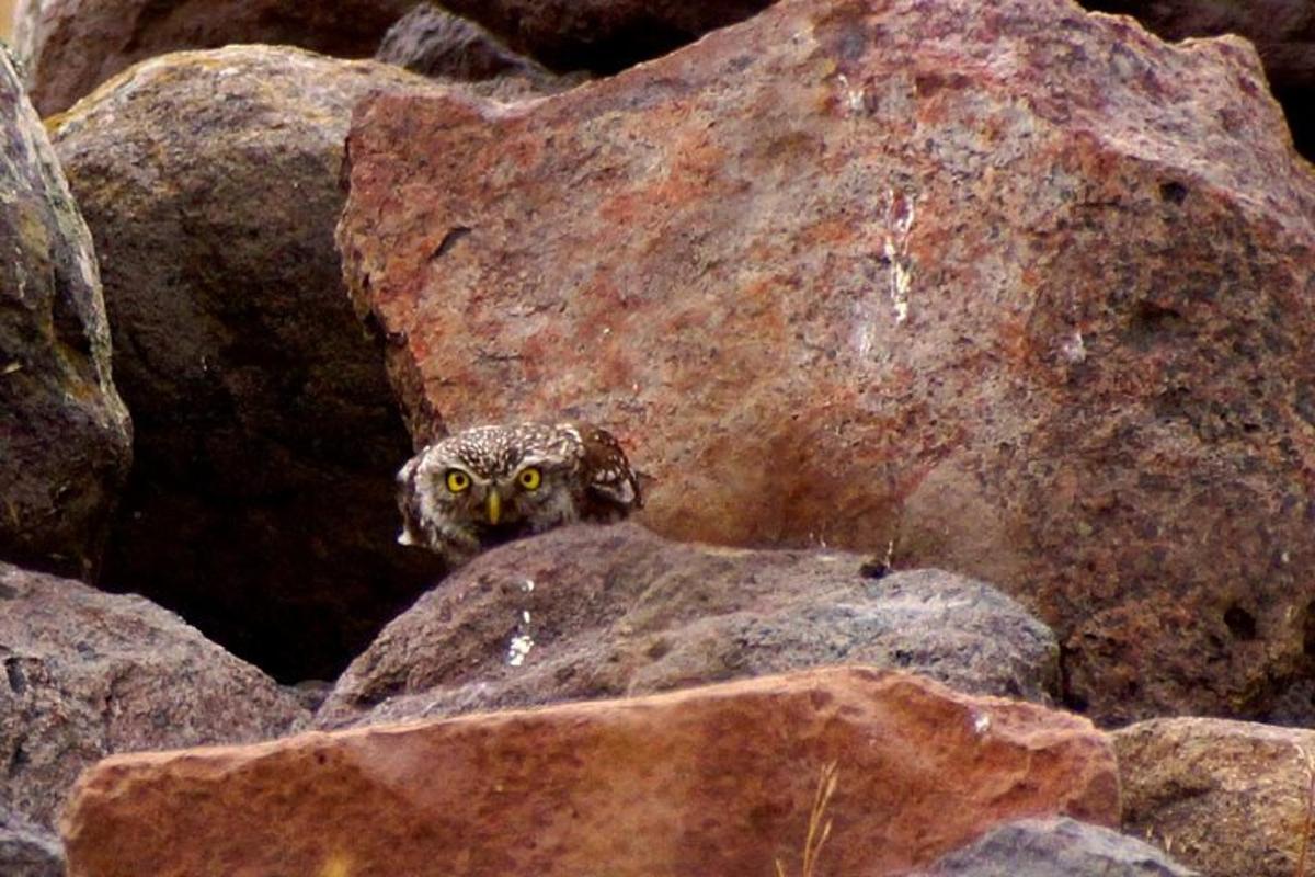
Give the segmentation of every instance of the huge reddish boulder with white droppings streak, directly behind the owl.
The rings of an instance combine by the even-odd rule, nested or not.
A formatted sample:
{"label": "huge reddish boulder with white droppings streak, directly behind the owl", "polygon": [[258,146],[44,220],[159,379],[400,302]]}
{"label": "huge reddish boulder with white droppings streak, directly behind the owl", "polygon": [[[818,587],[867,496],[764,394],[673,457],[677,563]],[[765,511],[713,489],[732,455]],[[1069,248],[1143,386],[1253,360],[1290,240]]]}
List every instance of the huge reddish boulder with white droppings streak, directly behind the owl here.
{"label": "huge reddish boulder with white droppings streak, directly behind the owl", "polygon": [[1103,721],[1310,671],[1315,176],[1241,41],[786,0],[513,110],[381,96],[348,155],[418,438],[580,417],[664,535],[1013,586]]}

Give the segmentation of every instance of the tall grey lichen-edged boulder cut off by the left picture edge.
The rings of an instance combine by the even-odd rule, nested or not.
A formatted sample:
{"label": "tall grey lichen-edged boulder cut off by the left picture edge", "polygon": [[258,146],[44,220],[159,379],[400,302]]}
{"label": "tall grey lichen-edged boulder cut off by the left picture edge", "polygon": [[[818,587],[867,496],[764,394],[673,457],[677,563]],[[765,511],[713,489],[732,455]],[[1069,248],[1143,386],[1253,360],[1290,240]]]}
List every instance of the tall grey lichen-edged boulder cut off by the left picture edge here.
{"label": "tall grey lichen-edged boulder cut off by the left picture edge", "polygon": [[132,462],[91,234],[0,50],[0,557],[91,576]]}

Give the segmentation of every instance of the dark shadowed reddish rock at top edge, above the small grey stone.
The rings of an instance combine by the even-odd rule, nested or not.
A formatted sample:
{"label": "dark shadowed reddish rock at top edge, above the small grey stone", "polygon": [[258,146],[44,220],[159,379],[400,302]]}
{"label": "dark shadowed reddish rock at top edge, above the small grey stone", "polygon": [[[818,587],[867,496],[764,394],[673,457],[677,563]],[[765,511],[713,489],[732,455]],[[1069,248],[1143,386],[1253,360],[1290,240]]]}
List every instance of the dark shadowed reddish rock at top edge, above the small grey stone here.
{"label": "dark shadowed reddish rock at top edge, above the small grey stone", "polygon": [[444,0],[555,70],[615,72],[748,18],[773,0]]}

